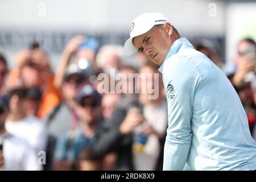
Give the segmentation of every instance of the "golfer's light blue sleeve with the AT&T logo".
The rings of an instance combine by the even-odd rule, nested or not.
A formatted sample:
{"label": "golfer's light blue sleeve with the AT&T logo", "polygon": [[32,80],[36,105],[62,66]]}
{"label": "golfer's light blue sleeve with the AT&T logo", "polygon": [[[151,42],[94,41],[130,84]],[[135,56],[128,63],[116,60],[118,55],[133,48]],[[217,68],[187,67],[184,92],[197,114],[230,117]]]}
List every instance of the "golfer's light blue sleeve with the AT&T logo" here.
{"label": "golfer's light blue sleeve with the AT&T logo", "polygon": [[190,60],[172,56],[164,63],[163,82],[168,102],[168,129],[163,170],[183,170],[192,140],[193,98],[199,72]]}

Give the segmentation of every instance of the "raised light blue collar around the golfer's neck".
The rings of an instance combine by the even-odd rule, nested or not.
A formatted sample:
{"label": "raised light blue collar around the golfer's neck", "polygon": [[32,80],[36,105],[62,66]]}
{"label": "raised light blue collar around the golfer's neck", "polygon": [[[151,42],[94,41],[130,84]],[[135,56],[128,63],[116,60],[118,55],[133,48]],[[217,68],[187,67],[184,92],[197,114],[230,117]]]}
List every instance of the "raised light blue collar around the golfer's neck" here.
{"label": "raised light blue collar around the golfer's neck", "polygon": [[163,65],[164,65],[164,62],[169,58],[171,57],[172,55],[175,55],[175,53],[179,52],[179,50],[181,48],[185,48],[185,47],[192,47],[192,44],[188,41],[188,39],[186,38],[179,38],[177,40],[175,40],[174,44],[172,44],[170,50],[168,51],[167,53],[167,56],[166,58],[164,59],[162,65],[160,66],[160,68],[158,69],[158,71],[160,73],[163,72]]}

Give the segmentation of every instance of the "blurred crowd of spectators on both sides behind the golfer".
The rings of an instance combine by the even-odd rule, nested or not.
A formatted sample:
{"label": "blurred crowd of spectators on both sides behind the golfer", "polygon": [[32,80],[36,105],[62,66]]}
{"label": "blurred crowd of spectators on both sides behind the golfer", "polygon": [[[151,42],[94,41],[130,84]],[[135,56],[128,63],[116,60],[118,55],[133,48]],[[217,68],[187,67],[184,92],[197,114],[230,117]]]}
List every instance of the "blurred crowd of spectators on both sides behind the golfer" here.
{"label": "blurred crowd of spectators on both sides behind the golfer", "polygon": [[[256,140],[254,40],[240,40],[231,61],[222,60],[209,41],[193,46],[232,82]],[[55,71],[38,43],[15,60],[0,52],[0,170],[162,170],[168,123],[162,76],[141,53],[134,59],[137,67],[122,45],[101,46],[80,35],[65,46]],[[102,73],[109,85],[121,73],[122,90],[133,92],[103,89],[97,79]],[[135,80],[131,74],[148,76]],[[155,93],[143,88],[157,88],[158,97],[150,99]]]}

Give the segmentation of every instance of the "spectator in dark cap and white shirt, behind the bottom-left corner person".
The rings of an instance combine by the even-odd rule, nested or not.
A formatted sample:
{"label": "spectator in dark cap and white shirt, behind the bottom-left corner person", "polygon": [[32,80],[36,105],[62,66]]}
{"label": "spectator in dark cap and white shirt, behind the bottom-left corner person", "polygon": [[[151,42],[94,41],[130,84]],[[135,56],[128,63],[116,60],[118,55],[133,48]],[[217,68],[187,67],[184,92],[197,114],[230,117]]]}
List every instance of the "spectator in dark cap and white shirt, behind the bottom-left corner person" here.
{"label": "spectator in dark cap and white shirt, behind the bottom-left corner person", "polygon": [[36,152],[46,151],[47,131],[46,126],[39,118],[26,113],[27,89],[22,85],[10,88],[10,111],[6,119],[6,130],[27,142]]}

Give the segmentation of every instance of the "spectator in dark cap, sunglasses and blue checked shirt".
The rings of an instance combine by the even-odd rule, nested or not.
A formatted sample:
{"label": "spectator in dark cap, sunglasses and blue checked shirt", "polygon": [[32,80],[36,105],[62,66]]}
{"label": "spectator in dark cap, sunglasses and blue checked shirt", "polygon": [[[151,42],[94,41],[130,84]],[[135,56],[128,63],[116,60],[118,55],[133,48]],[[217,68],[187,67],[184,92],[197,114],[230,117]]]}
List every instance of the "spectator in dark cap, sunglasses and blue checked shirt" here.
{"label": "spectator in dark cap, sunglasses and blue checked shirt", "polygon": [[90,85],[85,85],[77,94],[76,110],[80,127],[60,137],[56,144],[54,169],[73,170],[79,153],[92,146],[94,137],[103,124],[101,118],[101,95]]}

